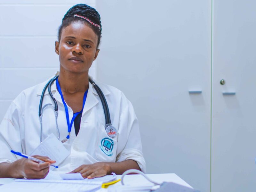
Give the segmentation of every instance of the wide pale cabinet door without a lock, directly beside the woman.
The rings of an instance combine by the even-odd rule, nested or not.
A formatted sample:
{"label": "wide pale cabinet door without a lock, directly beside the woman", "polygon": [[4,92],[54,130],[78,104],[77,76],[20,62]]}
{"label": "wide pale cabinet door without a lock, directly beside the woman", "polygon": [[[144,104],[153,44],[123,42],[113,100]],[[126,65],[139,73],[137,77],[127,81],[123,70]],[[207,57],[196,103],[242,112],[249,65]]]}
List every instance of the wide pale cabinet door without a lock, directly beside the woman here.
{"label": "wide pale cabinet door without a lock, directly beside the woman", "polygon": [[97,78],[132,102],[147,173],[210,191],[211,1],[99,0],[97,9]]}

